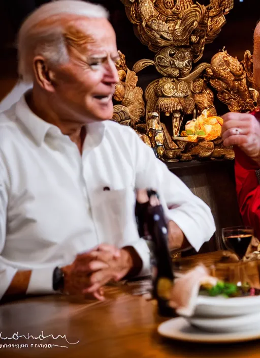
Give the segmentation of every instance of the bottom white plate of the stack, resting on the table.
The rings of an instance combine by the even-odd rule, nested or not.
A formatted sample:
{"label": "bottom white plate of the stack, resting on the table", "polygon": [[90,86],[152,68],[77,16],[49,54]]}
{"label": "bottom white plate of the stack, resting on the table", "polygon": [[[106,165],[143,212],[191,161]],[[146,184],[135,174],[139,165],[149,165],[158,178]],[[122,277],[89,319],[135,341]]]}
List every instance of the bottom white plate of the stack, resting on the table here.
{"label": "bottom white plate of the stack, resting on the table", "polygon": [[178,341],[196,343],[232,343],[251,341],[260,338],[259,327],[253,331],[237,333],[210,333],[193,327],[183,318],[173,318],[158,326],[158,333],[161,336]]}

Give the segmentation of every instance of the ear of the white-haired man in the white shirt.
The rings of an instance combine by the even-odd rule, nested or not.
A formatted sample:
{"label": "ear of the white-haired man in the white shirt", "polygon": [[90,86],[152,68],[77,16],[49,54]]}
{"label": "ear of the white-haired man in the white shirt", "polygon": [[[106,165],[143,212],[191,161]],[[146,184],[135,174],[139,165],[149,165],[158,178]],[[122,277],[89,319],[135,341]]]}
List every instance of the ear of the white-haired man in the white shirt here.
{"label": "ear of the white-haired man in the white shirt", "polygon": [[54,92],[55,76],[53,71],[48,68],[44,57],[36,56],[34,58],[34,72],[38,84],[46,91]]}

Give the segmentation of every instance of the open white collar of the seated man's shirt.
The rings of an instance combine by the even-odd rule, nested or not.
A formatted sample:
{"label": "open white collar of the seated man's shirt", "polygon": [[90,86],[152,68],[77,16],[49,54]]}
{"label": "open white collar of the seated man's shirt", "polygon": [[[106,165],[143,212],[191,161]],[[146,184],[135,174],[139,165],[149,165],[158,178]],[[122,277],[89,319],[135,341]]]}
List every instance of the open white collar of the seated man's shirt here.
{"label": "open white collar of the seated man's shirt", "polygon": [[[45,122],[30,110],[25,100],[27,93],[25,93],[16,103],[16,116],[28,130],[32,138],[34,138],[37,145],[42,145],[47,132],[50,132],[53,135],[63,135],[58,127]],[[89,140],[89,137],[91,137],[92,144],[98,145],[102,141],[106,129],[105,122],[106,121],[101,121],[87,124],[87,138]]]}

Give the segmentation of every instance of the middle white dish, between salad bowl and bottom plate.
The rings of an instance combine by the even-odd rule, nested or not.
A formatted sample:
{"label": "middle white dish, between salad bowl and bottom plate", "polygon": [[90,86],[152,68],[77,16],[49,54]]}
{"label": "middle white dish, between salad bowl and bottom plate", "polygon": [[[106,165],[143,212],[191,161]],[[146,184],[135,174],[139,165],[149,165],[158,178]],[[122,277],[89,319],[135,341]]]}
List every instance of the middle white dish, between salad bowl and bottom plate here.
{"label": "middle white dish, between salad bowl and bottom plate", "polygon": [[236,317],[197,318],[187,319],[191,324],[208,332],[241,332],[260,329],[260,312]]}

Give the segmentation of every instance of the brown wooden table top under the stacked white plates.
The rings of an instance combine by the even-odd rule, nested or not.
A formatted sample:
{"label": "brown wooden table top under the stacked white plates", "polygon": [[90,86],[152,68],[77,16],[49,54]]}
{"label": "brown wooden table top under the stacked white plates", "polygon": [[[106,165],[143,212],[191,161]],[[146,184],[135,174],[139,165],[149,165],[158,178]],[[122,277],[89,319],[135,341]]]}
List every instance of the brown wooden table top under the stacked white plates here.
{"label": "brown wooden table top under the stacked white plates", "polygon": [[[46,296],[0,306],[0,332],[3,337],[18,335],[66,335],[65,339],[9,340],[8,344],[28,344],[28,348],[1,348],[0,357],[62,358],[214,358],[260,357],[260,341],[230,344],[188,344],[164,339],[157,326],[154,302],[110,287],[105,302],[79,298]],[[0,339],[0,343],[4,343]],[[49,348],[35,347],[50,345]],[[53,344],[68,348],[54,347]]]}

